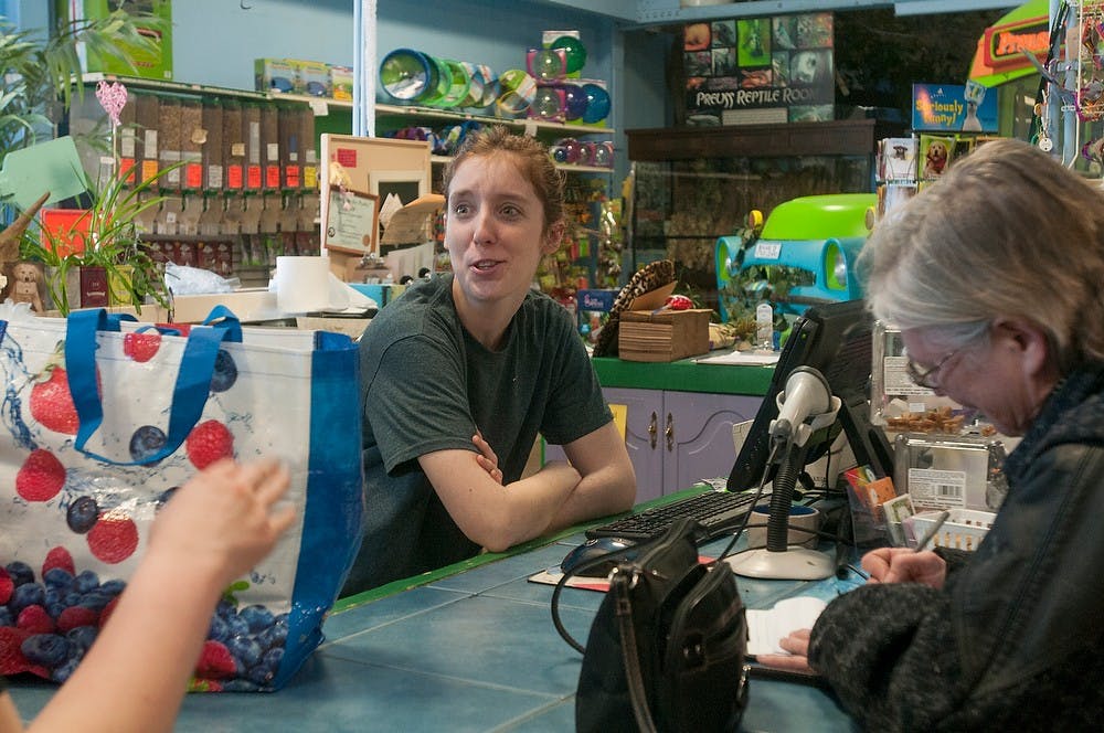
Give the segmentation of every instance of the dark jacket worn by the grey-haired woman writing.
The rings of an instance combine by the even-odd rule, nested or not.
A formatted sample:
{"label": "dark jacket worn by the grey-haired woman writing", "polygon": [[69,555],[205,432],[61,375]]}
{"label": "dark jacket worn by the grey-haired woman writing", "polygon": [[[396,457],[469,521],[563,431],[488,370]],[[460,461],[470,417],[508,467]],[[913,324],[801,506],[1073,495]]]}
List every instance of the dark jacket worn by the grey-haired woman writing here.
{"label": "dark jacket worn by the grey-haired woman writing", "polygon": [[809,661],[878,731],[1101,730],[1104,364],[1051,394],[1005,461],[1008,496],[936,591],[870,584],[834,601]]}

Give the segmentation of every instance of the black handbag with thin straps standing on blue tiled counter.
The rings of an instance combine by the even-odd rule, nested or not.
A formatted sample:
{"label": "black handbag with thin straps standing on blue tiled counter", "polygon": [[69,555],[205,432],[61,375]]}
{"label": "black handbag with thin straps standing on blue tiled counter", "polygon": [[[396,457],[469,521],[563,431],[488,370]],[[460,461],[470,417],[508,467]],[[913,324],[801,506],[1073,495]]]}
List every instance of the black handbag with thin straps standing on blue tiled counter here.
{"label": "black handbag with thin straps standing on blue tiled counter", "polygon": [[[586,647],[560,620],[560,636],[583,652],[575,693],[577,731],[735,731],[747,704],[747,628],[728,565],[698,561],[697,522],[679,520],[611,573]],[[597,561],[608,561],[608,557]],[[594,564],[594,563],[591,563]],[[576,569],[584,571],[587,565]]]}

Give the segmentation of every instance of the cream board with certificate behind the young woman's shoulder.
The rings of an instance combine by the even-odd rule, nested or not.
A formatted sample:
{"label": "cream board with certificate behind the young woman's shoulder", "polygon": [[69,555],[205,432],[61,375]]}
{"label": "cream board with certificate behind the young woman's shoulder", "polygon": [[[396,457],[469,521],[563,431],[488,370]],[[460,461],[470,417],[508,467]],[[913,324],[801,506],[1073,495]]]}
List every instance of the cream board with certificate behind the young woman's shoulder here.
{"label": "cream board with certificate behind the young woman's shoulder", "polygon": [[335,272],[344,272],[346,261],[379,254],[381,193],[429,193],[429,144],[424,140],[323,134],[321,167],[322,246]]}

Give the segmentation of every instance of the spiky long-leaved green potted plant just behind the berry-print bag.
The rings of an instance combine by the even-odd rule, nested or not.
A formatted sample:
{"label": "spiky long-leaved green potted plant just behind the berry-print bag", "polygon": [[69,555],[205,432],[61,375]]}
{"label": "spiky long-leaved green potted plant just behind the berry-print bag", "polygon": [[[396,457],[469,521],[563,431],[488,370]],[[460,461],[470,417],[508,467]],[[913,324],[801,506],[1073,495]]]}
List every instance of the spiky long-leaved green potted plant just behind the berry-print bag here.
{"label": "spiky long-leaved green potted plant just behind the berry-print bag", "polygon": [[[44,265],[46,291],[61,315],[73,307],[66,284],[77,267],[103,267],[114,304],[140,308],[152,299],[168,306],[161,268],[141,244],[138,220],[164,201],[166,196],[156,193],[157,182],[183,164],[162,168],[137,184],[127,183],[125,176],[113,176],[102,185],[85,177],[93,203],[76,221],[60,232],[41,229],[23,234],[20,256]],[[60,254],[74,238],[84,238],[84,251]]]}

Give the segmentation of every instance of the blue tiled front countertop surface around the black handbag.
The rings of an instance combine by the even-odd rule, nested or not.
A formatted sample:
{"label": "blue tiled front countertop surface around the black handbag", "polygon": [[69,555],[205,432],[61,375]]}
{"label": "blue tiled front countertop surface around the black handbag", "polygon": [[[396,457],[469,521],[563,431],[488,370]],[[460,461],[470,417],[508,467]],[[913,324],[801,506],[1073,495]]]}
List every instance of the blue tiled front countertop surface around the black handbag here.
{"label": "blue tiled front countertop surface around the black handbag", "polygon": [[[191,694],[178,731],[573,731],[581,656],[556,634],[552,587],[528,576],[558,565],[581,537],[481,565],[330,616],[327,640],[291,682],[269,694]],[[740,578],[749,605],[767,606],[814,586]],[[602,601],[567,589],[561,617],[580,640]],[[12,694],[33,715],[53,687],[18,681]],[[749,731],[852,731],[814,687],[753,680]]]}

